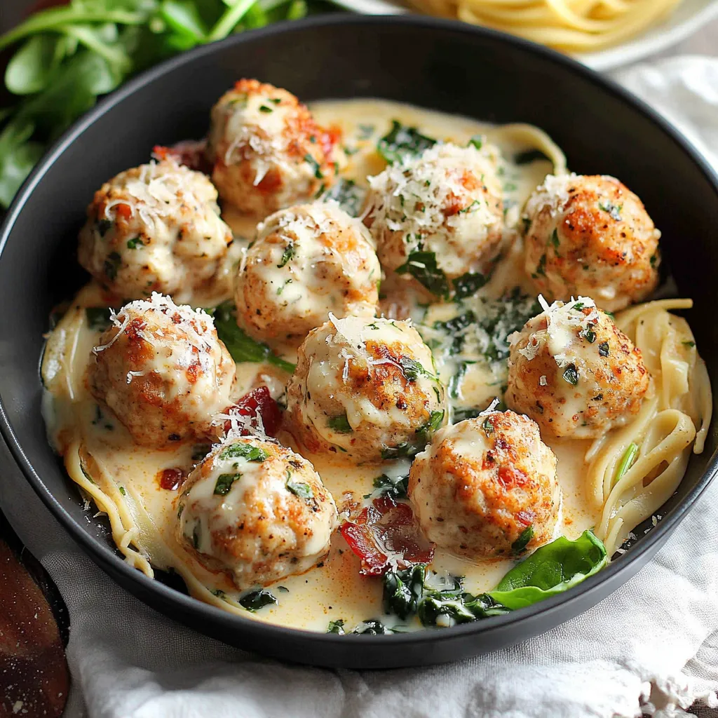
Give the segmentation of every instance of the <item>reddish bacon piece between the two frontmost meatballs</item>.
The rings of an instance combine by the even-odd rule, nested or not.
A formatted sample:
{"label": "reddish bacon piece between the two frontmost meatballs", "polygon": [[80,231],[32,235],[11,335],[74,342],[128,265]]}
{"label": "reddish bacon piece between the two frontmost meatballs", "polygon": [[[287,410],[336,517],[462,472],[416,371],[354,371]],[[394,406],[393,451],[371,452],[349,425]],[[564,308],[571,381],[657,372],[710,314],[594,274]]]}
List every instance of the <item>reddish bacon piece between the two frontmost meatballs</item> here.
{"label": "reddish bacon piece between the two frontmost meatballs", "polygon": [[361,559],[360,574],[364,576],[428,564],[434,558],[434,545],[424,538],[409,504],[394,503],[390,498],[374,499],[354,523],[345,522],[340,531]]}

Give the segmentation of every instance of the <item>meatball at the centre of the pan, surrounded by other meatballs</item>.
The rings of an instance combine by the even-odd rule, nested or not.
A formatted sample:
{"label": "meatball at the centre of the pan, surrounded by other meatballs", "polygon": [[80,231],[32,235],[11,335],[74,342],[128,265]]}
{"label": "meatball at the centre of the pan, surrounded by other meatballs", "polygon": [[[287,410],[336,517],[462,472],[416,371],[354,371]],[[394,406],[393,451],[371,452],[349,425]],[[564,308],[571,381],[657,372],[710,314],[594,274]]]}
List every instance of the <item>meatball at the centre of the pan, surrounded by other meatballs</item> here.
{"label": "meatball at the centre of the pan, surrounded by other meatballs", "polygon": [[369,317],[332,317],[309,332],[287,409],[289,429],[310,452],[345,452],[356,462],[415,454],[446,415],[419,332]]}

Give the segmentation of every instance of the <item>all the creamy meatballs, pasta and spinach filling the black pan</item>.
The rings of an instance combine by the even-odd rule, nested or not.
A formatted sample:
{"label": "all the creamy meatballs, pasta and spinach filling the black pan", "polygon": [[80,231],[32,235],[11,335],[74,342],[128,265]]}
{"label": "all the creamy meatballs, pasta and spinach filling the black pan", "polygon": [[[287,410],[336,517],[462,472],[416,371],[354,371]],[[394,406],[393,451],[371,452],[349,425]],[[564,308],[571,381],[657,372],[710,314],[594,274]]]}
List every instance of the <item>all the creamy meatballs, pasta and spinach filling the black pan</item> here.
{"label": "all the creamy meatballs, pasta and spinach filling the black pan", "polygon": [[95,195],[100,259],[42,361],[50,441],[129,565],[400,633],[564,592],[658,520],[712,395],[691,300],[650,301],[637,195],[526,124],[254,80],[213,123],[216,187],[157,148],[162,201],[139,170]]}

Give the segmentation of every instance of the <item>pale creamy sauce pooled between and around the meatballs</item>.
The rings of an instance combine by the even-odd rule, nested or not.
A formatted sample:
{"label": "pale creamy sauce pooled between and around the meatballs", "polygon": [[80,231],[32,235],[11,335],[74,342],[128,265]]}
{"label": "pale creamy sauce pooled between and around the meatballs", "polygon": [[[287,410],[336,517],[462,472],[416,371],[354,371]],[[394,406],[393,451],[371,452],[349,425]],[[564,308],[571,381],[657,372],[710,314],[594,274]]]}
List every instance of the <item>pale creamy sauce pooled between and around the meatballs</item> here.
{"label": "pale creamy sauce pooled between and around the meatballs", "polygon": [[[554,171],[554,165],[556,172],[565,169],[561,151],[543,133],[525,125],[493,127],[378,100],[325,101],[315,103],[312,111],[320,124],[339,126],[342,130],[346,151],[341,158],[340,174],[355,180],[360,187],[367,185],[368,174],[378,174],[385,166],[376,153],[376,142],[391,129],[392,120],[460,145],[467,144],[472,136],[485,135],[503,154],[499,174],[503,182],[505,223],[509,228],[518,222],[518,210],[526,197],[547,173]],[[554,165],[546,159],[532,159],[528,153],[536,149],[554,158]],[[519,164],[514,162],[517,157]],[[236,211],[225,208],[223,218],[233,228],[236,241],[220,281],[210,294],[196,297],[196,305],[211,307],[231,297],[231,279],[241,260],[242,248],[253,238],[253,223]],[[536,297],[529,294],[531,289],[519,264],[520,240],[512,232],[507,234],[500,261],[490,271],[487,284],[463,302],[430,304],[431,295],[413,281],[389,278],[383,283],[382,311],[388,317],[411,317],[432,348],[439,376],[452,396],[454,421],[462,419],[466,409],[483,409],[493,396],[501,395],[508,355],[506,336],[538,313],[538,308],[533,307]],[[185,446],[164,451],[136,447],[126,429],[107,411],[98,408],[86,387],[85,370],[101,330],[90,325],[84,308],[102,306],[100,289],[95,284],[88,285],[75,297],[50,335],[42,369],[47,389],[44,409],[56,449],[69,457],[70,449],[80,442],[85,475],[91,476],[93,483],[123,508],[125,528],[136,526],[125,534],[123,543],[134,546],[155,568],[180,573],[195,597],[258,620],[317,631],[327,630],[327,623],[338,619],[344,620],[348,628],[373,618],[390,627],[396,625],[396,617],[383,615],[381,579],[360,576],[359,559],[338,531],[330,555],[322,565],[273,584],[270,589],[278,604],[255,613],[238,605],[238,592],[225,574],[210,572],[182,549],[174,538],[177,490],[161,487],[162,472],[173,468],[189,470],[208,447]],[[291,353],[286,353],[286,358],[296,360]],[[281,396],[288,378],[270,365],[238,365],[234,398],[260,383],[266,383],[273,396]],[[286,432],[279,439],[299,450]],[[554,440],[549,445],[559,460],[563,495],[556,535],[574,539],[594,526],[598,518],[582,485],[587,442]],[[353,466],[334,454],[312,456],[303,450],[301,453],[314,464],[340,508],[347,493],[358,498],[370,494],[378,475],[406,475],[409,470],[406,460],[396,465]],[[68,466],[70,463],[68,459]],[[132,556],[128,560],[141,567]],[[512,565],[510,559],[471,564],[437,549],[431,568],[464,576],[465,590],[480,593],[495,587]],[[406,628],[419,628],[419,623]]]}

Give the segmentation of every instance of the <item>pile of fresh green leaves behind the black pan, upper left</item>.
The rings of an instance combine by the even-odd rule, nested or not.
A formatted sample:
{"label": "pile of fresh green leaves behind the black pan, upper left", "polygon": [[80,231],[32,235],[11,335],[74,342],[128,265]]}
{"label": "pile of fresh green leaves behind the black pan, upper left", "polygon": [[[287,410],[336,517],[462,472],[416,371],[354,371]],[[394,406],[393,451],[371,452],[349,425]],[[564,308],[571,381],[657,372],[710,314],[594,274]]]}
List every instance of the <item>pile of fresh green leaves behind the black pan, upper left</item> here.
{"label": "pile of fresh green leaves behind the black pan, upper left", "polygon": [[0,205],[98,95],[177,52],[306,13],[304,0],[73,0],[32,14],[0,36],[0,50],[17,46],[4,79],[19,98],[0,110]]}

